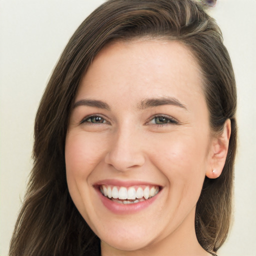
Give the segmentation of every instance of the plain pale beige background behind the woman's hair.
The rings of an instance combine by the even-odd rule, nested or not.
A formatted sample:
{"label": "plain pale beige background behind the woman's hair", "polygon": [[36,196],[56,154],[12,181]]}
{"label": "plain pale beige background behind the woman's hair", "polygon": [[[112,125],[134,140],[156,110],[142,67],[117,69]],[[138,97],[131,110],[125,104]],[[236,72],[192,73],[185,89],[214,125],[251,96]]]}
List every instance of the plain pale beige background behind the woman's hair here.
{"label": "plain pale beige background behind the woman's hair", "polygon": [[[7,255],[31,169],[33,120],[68,38],[103,0],[0,0],[0,255]],[[256,0],[218,0],[236,74],[239,146],[234,222],[221,256],[256,255]]]}

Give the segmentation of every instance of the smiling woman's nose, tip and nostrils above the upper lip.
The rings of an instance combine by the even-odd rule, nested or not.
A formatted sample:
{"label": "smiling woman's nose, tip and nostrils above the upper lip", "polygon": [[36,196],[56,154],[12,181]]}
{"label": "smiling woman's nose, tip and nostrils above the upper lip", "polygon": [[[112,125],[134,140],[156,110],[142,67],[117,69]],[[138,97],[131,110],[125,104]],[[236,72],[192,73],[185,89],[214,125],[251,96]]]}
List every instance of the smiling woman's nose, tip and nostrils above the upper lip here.
{"label": "smiling woman's nose, tip and nostrils above the upper lip", "polygon": [[118,171],[130,170],[132,167],[142,166],[145,155],[142,150],[143,138],[135,130],[128,128],[119,130],[113,135],[109,151],[105,155],[105,163]]}

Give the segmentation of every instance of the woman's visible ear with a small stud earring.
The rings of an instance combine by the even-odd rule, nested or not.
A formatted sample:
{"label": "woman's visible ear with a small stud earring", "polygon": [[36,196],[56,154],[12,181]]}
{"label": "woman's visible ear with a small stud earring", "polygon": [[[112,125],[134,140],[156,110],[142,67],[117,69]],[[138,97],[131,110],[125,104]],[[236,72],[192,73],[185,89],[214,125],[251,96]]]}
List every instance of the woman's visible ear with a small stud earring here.
{"label": "woman's visible ear with a small stud earring", "polygon": [[209,150],[210,164],[205,173],[208,178],[217,178],[221,174],[226,160],[230,134],[231,122],[230,119],[227,119],[222,132],[211,140]]}

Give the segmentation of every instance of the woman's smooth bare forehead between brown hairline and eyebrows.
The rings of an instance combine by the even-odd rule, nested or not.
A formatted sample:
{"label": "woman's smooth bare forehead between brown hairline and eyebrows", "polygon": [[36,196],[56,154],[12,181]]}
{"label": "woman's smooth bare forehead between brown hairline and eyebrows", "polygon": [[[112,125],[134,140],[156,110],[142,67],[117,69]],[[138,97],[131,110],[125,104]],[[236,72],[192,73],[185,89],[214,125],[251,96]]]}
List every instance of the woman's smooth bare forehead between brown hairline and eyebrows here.
{"label": "woman's smooth bare forehead between brown hairline and eyebrows", "polygon": [[138,100],[166,95],[196,100],[203,95],[200,68],[190,50],[177,41],[112,42],[92,61],[76,99],[109,97],[114,102],[125,95]]}

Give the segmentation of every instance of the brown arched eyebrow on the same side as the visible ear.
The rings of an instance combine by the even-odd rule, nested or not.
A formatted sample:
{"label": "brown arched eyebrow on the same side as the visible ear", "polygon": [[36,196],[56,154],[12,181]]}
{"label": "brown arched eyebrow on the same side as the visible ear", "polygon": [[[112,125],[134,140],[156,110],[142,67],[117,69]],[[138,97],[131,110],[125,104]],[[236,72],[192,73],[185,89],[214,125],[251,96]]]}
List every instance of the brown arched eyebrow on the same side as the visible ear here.
{"label": "brown arched eyebrow on the same side as the visible ear", "polygon": [[138,104],[139,109],[145,109],[154,106],[160,105],[174,105],[187,110],[187,108],[176,98],[174,97],[157,97],[157,98],[147,98],[144,99]]}

